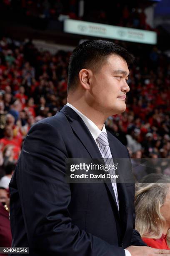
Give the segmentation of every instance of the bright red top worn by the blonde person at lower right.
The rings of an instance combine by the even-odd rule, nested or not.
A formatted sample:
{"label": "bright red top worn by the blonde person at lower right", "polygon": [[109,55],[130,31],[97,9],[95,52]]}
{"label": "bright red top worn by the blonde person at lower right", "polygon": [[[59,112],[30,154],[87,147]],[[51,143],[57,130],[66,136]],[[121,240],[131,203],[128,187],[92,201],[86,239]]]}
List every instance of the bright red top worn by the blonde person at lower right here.
{"label": "bright red top worn by the blonde person at lower right", "polygon": [[160,239],[153,239],[153,238],[145,238],[143,237],[142,240],[152,248],[170,250],[168,247],[166,236],[163,234]]}

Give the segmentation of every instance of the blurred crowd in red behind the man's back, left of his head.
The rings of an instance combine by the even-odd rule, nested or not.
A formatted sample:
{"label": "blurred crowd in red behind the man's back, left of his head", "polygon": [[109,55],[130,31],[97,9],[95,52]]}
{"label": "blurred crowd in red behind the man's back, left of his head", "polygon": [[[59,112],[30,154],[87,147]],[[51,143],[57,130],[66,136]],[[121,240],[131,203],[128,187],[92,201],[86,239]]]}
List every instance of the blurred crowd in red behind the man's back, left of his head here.
{"label": "blurred crowd in red behind the man's back, left of his head", "polygon": [[[0,166],[16,163],[31,125],[55,115],[67,99],[70,53],[39,52],[34,45],[0,41]],[[2,176],[2,170],[1,170]]]}

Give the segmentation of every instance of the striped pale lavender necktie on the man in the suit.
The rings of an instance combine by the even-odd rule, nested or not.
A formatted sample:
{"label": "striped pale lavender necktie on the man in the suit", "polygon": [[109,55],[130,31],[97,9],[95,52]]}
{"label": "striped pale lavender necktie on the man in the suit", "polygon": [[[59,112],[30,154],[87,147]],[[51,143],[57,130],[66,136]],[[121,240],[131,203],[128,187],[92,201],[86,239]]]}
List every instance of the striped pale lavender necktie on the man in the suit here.
{"label": "striped pale lavender necktie on the man in the suit", "polygon": [[[112,159],[112,154],[110,151],[110,146],[109,146],[109,142],[107,139],[107,133],[101,132],[100,135],[97,137],[96,139],[99,149],[100,149],[100,153],[102,155],[102,158],[105,162],[105,164],[114,164],[113,163],[113,159]],[[111,175],[115,175],[115,170],[111,169],[109,170],[109,173]],[[116,179],[112,178],[111,179],[112,182],[112,187],[115,193],[115,199],[116,199],[116,203],[117,203],[117,207],[119,210],[119,199],[118,199],[118,194],[117,194],[117,184],[116,184]]]}

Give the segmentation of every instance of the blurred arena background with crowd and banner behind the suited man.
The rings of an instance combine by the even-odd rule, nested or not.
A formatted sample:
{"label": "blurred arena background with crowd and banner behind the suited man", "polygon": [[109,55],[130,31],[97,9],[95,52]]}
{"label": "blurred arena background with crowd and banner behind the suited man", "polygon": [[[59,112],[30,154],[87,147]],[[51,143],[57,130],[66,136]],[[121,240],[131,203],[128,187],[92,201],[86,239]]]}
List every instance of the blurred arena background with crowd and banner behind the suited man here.
{"label": "blurred arena background with crowd and banner behind the suited man", "polygon": [[[108,118],[106,128],[133,159],[170,159],[169,0],[1,0],[0,178],[9,183],[30,127],[66,104],[70,54],[83,40],[95,38],[120,44],[135,56],[127,109]],[[170,175],[169,162],[157,172]],[[5,209],[9,212],[9,202]],[[8,215],[0,246],[12,239]]]}

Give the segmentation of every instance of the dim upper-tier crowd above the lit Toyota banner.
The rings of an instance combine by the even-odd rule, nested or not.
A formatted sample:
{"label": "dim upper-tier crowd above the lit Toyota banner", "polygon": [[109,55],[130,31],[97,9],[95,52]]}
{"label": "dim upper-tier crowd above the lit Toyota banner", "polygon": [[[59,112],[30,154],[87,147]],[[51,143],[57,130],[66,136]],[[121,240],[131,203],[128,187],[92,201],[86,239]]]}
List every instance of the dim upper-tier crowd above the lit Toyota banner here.
{"label": "dim upper-tier crowd above the lit Toyota banner", "polygon": [[146,22],[145,5],[140,7],[138,3],[125,4],[118,0],[110,3],[107,0],[105,5],[97,1],[84,1],[83,6],[84,11],[80,15],[80,0],[3,0],[0,4],[1,10],[18,13],[22,20],[24,17],[62,20],[62,16],[65,16],[76,20],[152,30]]}

